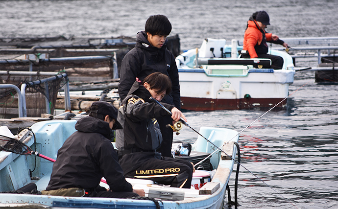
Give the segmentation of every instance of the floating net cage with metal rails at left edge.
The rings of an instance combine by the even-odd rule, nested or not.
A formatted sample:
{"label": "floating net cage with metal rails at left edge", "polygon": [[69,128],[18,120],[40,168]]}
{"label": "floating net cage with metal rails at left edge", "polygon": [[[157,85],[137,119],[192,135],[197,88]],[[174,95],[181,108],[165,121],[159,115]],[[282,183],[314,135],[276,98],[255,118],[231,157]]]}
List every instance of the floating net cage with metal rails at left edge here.
{"label": "floating net cage with metal rails at left edge", "polygon": [[[13,84],[21,89],[22,84],[26,84],[25,103],[27,117],[41,117],[41,114],[47,113],[53,115],[57,93],[68,82],[67,77],[61,77],[48,82],[36,82],[42,79],[52,77],[51,75],[12,75],[0,74],[0,84]],[[46,91],[46,86],[48,87]],[[47,102],[49,113],[47,112]],[[0,118],[18,117],[18,95],[12,88],[0,89]]]}

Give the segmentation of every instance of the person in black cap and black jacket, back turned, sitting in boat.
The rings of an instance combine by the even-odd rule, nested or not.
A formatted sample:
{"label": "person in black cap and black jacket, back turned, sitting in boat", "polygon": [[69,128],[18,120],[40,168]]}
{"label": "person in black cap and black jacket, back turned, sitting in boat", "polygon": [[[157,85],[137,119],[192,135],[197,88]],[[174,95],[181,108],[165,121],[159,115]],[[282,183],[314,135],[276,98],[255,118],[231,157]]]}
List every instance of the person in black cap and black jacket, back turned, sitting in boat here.
{"label": "person in black cap and black jacket, back turned, sitting in boat", "polygon": [[[104,101],[94,102],[90,114],[79,119],[74,132],[57,153],[49,184],[42,193],[59,196],[130,198],[145,196],[133,189],[124,176],[118,155],[109,139],[121,129],[118,110]],[[110,189],[99,186],[104,177]]]}

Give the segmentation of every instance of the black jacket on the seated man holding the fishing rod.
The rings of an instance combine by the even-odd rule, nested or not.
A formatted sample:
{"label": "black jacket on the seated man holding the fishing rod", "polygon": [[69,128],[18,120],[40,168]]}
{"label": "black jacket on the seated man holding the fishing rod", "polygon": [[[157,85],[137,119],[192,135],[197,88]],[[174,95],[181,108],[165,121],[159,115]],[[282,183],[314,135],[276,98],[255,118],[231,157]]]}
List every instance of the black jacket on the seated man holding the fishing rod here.
{"label": "black jacket on the seated man holding the fishing rod", "polygon": [[[116,130],[116,147],[118,150],[141,149],[144,151],[158,149],[162,142],[159,125],[155,118],[169,114],[158,104],[149,100],[151,94],[139,82],[135,81],[128,96],[119,108],[118,121],[123,129]],[[162,103],[169,111],[173,105]]]}

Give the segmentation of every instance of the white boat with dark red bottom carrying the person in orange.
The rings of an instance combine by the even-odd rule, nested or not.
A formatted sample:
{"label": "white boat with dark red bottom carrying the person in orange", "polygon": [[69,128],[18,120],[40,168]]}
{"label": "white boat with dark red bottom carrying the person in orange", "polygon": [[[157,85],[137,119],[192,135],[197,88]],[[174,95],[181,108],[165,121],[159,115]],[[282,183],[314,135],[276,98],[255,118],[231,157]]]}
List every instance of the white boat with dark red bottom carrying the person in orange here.
{"label": "white boat with dark red bottom carrying the person in orange", "polygon": [[[283,68],[273,70],[270,59],[239,58],[241,49],[236,40],[226,45],[225,39],[208,38],[200,48],[177,56],[181,108],[193,111],[271,108],[287,97],[295,73],[292,57],[269,49],[269,53],[284,59]],[[285,106],[286,101],[277,108]]]}

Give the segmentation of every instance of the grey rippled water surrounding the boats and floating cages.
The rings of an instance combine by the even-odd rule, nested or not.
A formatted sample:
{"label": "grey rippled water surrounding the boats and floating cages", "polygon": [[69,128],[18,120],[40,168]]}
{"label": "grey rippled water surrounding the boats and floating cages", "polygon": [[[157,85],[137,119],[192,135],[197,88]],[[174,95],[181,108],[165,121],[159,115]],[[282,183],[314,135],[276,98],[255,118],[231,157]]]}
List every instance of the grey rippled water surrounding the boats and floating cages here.
{"label": "grey rippled water surrounding the boats and floating cages", "polygon": [[[267,31],[282,39],[338,36],[338,0],[0,0],[0,38],[135,36],[149,15],[164,14],[172,23],[171,35],[179,34],[186,50],[207,37],[241,40],[246,21],[257,10],[268,12]],[[338,86],[316,84],[311,71],[296,72],[294,79],[290,94],[306,85],[288,98],[287,110],[269,112],[240,135],[241,164],[275,191],[241,167],[239,209],[338,208]],[[196,130],[211,126],[241,131],[264,113],[185,115]],[[177,139],[196,138],[184,128]]]}

